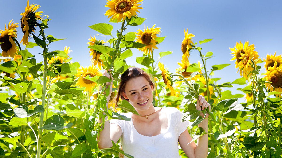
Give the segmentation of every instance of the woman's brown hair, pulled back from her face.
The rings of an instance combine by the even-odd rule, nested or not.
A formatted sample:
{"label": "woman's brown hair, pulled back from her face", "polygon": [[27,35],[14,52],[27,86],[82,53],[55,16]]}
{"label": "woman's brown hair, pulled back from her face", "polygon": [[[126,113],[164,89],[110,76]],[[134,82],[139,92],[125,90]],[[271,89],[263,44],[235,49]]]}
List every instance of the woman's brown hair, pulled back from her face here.
{"label": "woman's brown hair, pulled back from her face", "polygon": [[[149,82],[150,85],[153,86],[153,90],[155,90],[155,84],[152,82],[150,76],[143,71],[142,69],[138,68],[138,67],[129,67],[127,70],[124,71],[124,73],[122,74],[122,76],[120,77],[120,84],[119,84],[119,88],[118,88],[118,95],[116,97],[116,107],[118,106],[118,101],[121,100],[127,100],[124,98],[124,96],[122,95],[122,92],[125,91],[125,84],[132,78],[136,78],[139,76],[143,76],[147,79],[147,81]],[[127,100],[128,101],[128,100]]]}

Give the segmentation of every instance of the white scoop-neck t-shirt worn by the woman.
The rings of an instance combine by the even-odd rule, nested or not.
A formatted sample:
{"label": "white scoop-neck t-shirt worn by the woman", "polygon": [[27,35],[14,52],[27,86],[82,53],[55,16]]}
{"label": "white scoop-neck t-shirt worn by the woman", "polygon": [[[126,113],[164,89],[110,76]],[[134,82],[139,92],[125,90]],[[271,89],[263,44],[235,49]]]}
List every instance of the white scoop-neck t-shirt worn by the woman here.
{"label": "white scoop-neck t-shirt worn by the woman", "polygon": [[[125,153],[139,157],[168,157],[179,158],[178,138],[182,134],[190,122],[181,122],[182,113],[173,107],[163,108],[168,117],[167,129],[156,136],[144,136],[139,134],[131,121],[111,119],[111,123],[115,123],[122,129],[120,137],[122,147]],[[122,113],[122,115],[131,118],[131,112]],[[124,156],[126,157],[126,156]]]}

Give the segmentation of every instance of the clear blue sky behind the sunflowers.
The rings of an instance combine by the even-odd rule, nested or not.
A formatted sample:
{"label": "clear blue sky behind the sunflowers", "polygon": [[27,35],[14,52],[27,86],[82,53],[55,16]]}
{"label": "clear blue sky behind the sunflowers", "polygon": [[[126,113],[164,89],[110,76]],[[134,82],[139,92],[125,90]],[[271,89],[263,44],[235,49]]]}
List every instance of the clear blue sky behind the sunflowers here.
{"label": "clear blue sky behind the sunflowers", "polygon": [[[87,42],[90,36],[95,35],[96,39],[108,40],[109,37],[97,36],[98,32],[88,26],[96,23],[108,23],[109,19],[104,13],[109,9],[105,7],[107,1],[74,1],[74,0],[30,0],[30,4],[40,4],[38,11],[43,15],[49,15],[49,29],[45,30],[47,35],[56,38],[67,38],[50,44],[50,51],[63,50],[64,46],[70,46],[70,57],[73,62],[79,61],[81,66],[89,66],[89,48]],[[14,19],[20,23],[21,15],[27,5],[25,0],[0,0],[0,29],[4,30],[5,23]],[[282,10],[280,0],[144,0],[143,9],[139,10],[139,17],[146,18],[140,26],[128,27],[128,31],[137,31],[144,28],[144,24],[151,28],[154,24],[161,29],[161,37],[167,36],[164,42],[158,45],[159,49],[154,52],[157,59],[158,53],[162,51],[173,51],[173,54],[162,58],[160,61],[172,73],[181,62],[181,42],[184,39],[184,28],[189,29],[188,33],[195,35],[194,42],[204,39],[213,39],[211,42],[202,44],[202,53],[212,51],[215,56],[208,60],[207,67],[215,64],[231,64],[230,66],[215,71],[216,78],[222,78],[219,83],[232,82],[241,76],[236,74],[235,61],[230,61],[230,48],[236,42],[249,41],[255,44],[255,51],[263,59],[266,54],[282,54]],[[114,31],[120,29],[121,24],[114,24]],[[36,35],[39,31],[36,30]],[[18,28],[18,40],[23,33]],[[31,40],[30,40],[31,41]],[[42,53],[40,48],[30,49],[30,52],[41,59],[37,53]],[[127,64],[136,64],[135,58],[141,57],[142,52],[133,50],[133,57],[128,58]],[[201,60],[198,51],[192,51],[190,64]]]}

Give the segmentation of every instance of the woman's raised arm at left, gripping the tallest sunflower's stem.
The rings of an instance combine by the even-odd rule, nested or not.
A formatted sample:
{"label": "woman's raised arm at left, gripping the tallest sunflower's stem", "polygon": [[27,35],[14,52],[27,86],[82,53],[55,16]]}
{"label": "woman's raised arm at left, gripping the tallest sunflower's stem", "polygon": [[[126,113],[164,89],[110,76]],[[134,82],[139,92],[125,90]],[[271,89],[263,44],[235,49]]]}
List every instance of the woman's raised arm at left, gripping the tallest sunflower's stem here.
{"label": "woman's raised arm at left, gripping the tallest sunflower's stem", "polygon": [[[111,70],[109,70],[111,71]],[[112,78],[111,75],[109,75],[109,73],[107,73],[107,71],[105,71],[105,73],[103,74],[104,76],[108,77],[108,78]],[[107,103],[106,103],[106,107],[108,107],[108,103],[111,97],[111,93],[113,90],[113,86],[112,86],[112,82],[108,82],[106,83],[107,86],[109,86],[109,95],[107,96]],[[119,125],[117,124],[111,124],[109,123],[109,121],[107,120],[108,117],[105,117],[105,122],[104,122],[104,126],[103,126],[103,130],[101,130],[97,136],[97,141],[98,141],[98,147],[99,149],[103,149],[103,148],[111,148],[113,146],[112,141],[114,141],[114,143],[116,143],[118,141],[118,139],[120,139],[120,136],[122,135],[122,129],[120,128]],[[102,118],[100,118],[98,120],[98,123],[102,123]],[[102,127],[101,127],[102,128]]]}

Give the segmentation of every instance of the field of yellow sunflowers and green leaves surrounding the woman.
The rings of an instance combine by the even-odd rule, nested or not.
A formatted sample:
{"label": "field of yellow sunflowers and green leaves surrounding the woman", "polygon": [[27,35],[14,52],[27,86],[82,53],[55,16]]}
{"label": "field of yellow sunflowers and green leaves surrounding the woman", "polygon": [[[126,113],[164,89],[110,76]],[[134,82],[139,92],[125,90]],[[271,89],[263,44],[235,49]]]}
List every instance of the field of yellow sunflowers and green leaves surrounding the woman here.
{"label": "field of yellow sunflowers and green leaves surrounding the woman", "polygon": [[[214,72],[230,64],[207,66],[216,60],[211,51],[202,53],[207,49],[205,43],[212,39],[196,42],[186,28],[179,68],[169,72],[159,60],[172,52],[158,51],[166,37],[160,36],[157,25],[144,25],[145,19],[138,16],[141,5],[142,0],[105,1],[108,10],[104,14],[109,23],[89,27],[109,40],[91,36],[87,44],[92,64],[87,67],[72,62],[70,47],[52,49],[53,42],[63,39],[49,35],[49,22],[56,17],[50,19],[48,13],[40,11],[39,4],[28,0],[20,20],[2,22],[0,157],[133,157],[120,149],[120,141],[111,148],[99,149],[96,139],[103,127],[99,118],[127,120],[119,113],[136,113],[127,101],[120,101],[118,108],[114,101],[120,75],[130,67],[126,58],[133,56],[134,49],[142,52],[136,63],[155,82],[153,104],[183,112],[182,120],[191,122],[188,131],[193,141],[207,134],[208,158],[282,156],[282,55],[274,53],[262,59],[254,44],[234,41],[230,59],[240,77],[218,83],[221,78],[213,77]],[[120,27],[116,32],[113,23]],[[126,30],[132,26],[139,29]],[[18,37],[17,31],[22,31],[23,37]],[[35,47],[41,49],[43,60],[36,60],[30,53]],[[198,63],[190,63],[191,52],[199,55]],[[111,80],[103,72],[109,69],[113,93],[106,107],[109,90],[105,83]],[[243,86],[237,89],[243,94],[224,90],[235,85]],[[199,95],[211,105],[211,110],[204,112],[210,114],[208,133],[197,126],[204,119],[195,107]],[[243,97],[245,101],[238,101]],[[181,149],[179,155],[187,157]]]}

